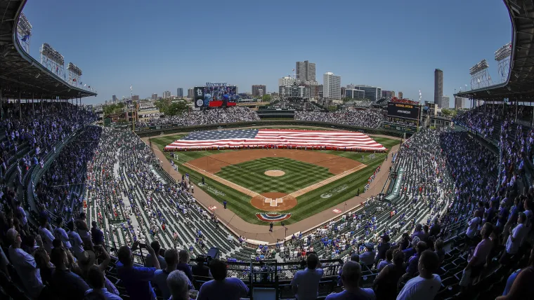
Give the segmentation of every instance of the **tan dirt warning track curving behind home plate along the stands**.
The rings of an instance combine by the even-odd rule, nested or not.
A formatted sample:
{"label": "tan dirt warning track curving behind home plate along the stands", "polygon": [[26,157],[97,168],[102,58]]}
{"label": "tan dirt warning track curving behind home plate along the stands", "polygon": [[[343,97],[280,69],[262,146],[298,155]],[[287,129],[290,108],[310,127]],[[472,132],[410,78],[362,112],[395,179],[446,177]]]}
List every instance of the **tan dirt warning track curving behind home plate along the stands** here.
{"label": "tan dirt warning track curving behind home plate along the stands", "polygon": [[[174,133],[174,135],[176,135],[176,133]],[[396,137],[388,138],[401,140],[401,138]],[[143,137],[142,139],[146,144],[149,144],[149,137]],[[370,198],[371,196],[377,196],[379,193],[381,193],[382,187],[386,183],[386,180],[389,178],[389,167],[391,167],[391,154],[397,152],[398,148],[399,145],[396,145],[389,150],[387,161],[384,161],[382,163],[382,167],[377,173],[375,180],[370,184],[370,188],[367,189],[365,193],[360,193],[360,196],[355,196],[349,200],[346,200],[344,203],[339,203],[338,205],[334,205],[327,210],[323,210],[322,212],[313,214],[313,216],[298,221],[297,223],[285,226],[285,228],[287,228],[287,236],[291,236],[293,233],[299,233],[301,231],[308,231],[309,229],[313,229],[325,221],[329,221],[330,219],[334,219],[335,217],[340,217],[340,214],[336,214],[332,210],[341,210],[341,212],[353,210],[359,205],[361,205],[361,203],[365,202],[367,198]],[[169,175],[171,175],[171,177],[173,177],[174,179],[181,180],[182,175],[171,167],[171,163],[169,163],[169,157],[165,156],[162,151],[159,151],[155,144],[152,145],[152,149],[156,154],[157,158],[162,161],[162,168],[167,171],[167,173],[169,173]],[[309,154],[311,152],[312,151],[306,151],[306,154]],[[211,198],[211,196],[209,196],[205,191],[202,191],[202,189],[195,189],[194,196],[198,200],[198,203],[204,206],[204,209],[206,210],[207,207],[210,205],[217,207],[221,206],[221,204],[217,200]],[[235,214],[231,210],[218,209],[216,211],[216,215],[221,220],[221,223],[225,224],[228,229],[230,229],[230,231],[233,231],[233,233],[239,236],[245,236],[245,238],[249,240],[261,241],[263,243],[276,243],[278,239],[286,238],[285,228],[282,226],[274,226],[273,232],[271,233],[269,232],[269,226],[267,224],[250,224],[249,222],[241,219],[239,215]]]}

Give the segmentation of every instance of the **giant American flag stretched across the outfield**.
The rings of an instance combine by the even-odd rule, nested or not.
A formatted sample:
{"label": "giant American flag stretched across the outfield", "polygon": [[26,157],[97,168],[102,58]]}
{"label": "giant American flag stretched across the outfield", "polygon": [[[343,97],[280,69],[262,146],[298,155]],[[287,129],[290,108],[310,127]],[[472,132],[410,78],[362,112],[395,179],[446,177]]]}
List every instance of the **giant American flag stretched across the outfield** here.
{"label": "giant American flag stretched across the outfield", "polygon": [[361,132],[240,129],[191,132],[165,147],[186,149],[289,148],[385,151],[386,148]]}

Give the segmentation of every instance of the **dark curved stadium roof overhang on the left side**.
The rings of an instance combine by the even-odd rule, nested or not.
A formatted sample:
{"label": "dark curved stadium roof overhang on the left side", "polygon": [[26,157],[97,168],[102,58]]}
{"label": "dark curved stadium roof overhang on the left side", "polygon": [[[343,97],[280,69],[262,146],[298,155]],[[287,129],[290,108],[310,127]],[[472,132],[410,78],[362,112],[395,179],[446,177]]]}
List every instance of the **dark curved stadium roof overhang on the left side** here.
{"label": "dark curved stadium roof overhang on the left side", "polygon": [[96,96],[76,88],[22,49],[17,37],[17,24],[27,0],[0,1],[0,88],[2,97],[13,99],[68,100]]}

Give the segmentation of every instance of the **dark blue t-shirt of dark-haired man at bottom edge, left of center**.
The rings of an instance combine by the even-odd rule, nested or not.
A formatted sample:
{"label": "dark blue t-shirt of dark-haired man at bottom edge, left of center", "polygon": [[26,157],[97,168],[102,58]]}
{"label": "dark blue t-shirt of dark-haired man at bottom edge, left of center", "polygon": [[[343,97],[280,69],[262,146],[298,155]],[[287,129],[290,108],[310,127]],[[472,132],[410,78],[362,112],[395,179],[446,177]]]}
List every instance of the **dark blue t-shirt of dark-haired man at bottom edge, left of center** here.
{"label": "dark blue t-shirt of dark-haired man at bottom edge, left of center", "polygon": [[219,300],[221,296],[226,300],[239,300],[247,294],[249,288],[239,278],[225,278],[205,282],[200,287],[197,300]]}

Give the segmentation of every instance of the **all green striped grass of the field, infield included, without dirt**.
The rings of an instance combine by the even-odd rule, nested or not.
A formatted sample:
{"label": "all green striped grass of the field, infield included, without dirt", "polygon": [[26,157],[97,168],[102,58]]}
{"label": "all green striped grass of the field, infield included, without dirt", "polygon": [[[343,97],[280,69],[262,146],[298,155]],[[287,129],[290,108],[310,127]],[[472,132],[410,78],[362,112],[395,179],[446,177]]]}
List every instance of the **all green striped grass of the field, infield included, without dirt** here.
{"label": "all green striped grass of the field, infield included, without dirt", "polygon": [[[176,139],[182,136],[183,135],[173,135],[173,136],[167,136],[167,137],[153,137],[152,143],[156,144],[159,147],[159,149],[163,150],[165,146],[167,146],[171,142],[174,142]],[[396,144],[399,143],[399,141],[396,139],[389,139],[386,137],[372,137],[372,138],[375,139],[375,141],[379,142],[380,144],[383,144],[388,149],[391,149],[392,146],[395,146]],[[219,153],[223,153],[227,151],[233,151],[233,150],[183,151],[183,152],[177,153],[178,159],[174,161],[178,165],[179,172],[181,173],[187,172],[190,175],[190,178],[192,178],[193,182],[199,183],[202,181],[201,179],[202,175],[191,170],[190,168],[183,166],[182,164],[185,162],[191,161],[193,159],[200,158],[202,156],[211,156],[213,154],[219,154]],[[360,161],[361,163],[365,163],[367,167],[363,168],[362,170],[359,170],[358,172],[354,172],[350,175],[347,175],[346,177],[338,179],[335,182],[322,186],[319,189],[315,189],[302,196],[299,196],[297,198],[298,200],[297,206],[293,207],[290,211],[287,211],[287,212],[292,213],[292,217],[284,221],[285,224],[293,224],[297,221],[300,221],[301,219],[306,219],[307,217],[310,217],[312,214],[316,214],[323,210],[327,210],[334,205],[342,203],[343,201],[348,200],[349,198],[352,198],[353,196],[356,196],[356,192],[358,191],[358,189],[360,189],[360,193],[362,193],[365,184],[367,184],[367,179],[369,179],[369,177],[372,175],[373,172],[375,172],[377,167],[382,164],[386,156],[386,154],[375,154],[375,158],[369,159],[370,154],[368,153],[331,151],[331,150],[320,151],[320,152],[327,153],[327,154],[334,154],[337,156],[350,158],[355,161]],[[362,155],[365,156],[365,159],[363,160],[362,160]],[[168,154],[166,154],[166,156],[169,158]],[[269,185],[271,185],[270,189],[268,189],[266,186],[264,189],[263,184],[259,184],[259,182],[251,181],[252,176],[250,173],[253,172],[254,177],[258,177],[258,176],[263,175],[263,172],[265,172],[265,170],[288,170],[289,172],[293,172],[293,171],[291,171],[290,168],[287,168],[287,162],[285,161],[284,162],[278,161],[278,163],[276,161],[269,161],[267,164],[268,169],[261,171],[262,168],[266,168],[265,161],[264,161],[265,159],[266,158],[260,158],[254,161],[240,163],[239,165],[248,164],[248,163],[254,164],[255,162],[257,163],[258,161],[261,161],[261,164],[256,166],[257,168],[248,165],[247,168],[250,169],[250,171],[247,171],[248,173],[247,172],[241,172],[241,173],[234,172],[233,170],[230,170],[230,168],[235,168],[235,167],[230,166],[230,167],[223,168],[223,170],[221,170],[221,172],[218,172],[217,175],[224,177],[225,179],[228,179],[233,182],[238,180],[240,182],[235,182],[236,184],[245,186],[248,189],[256,191],[257,193],[263,193],[266,191],[276,191],[276,190],[273,190],[275,189],[275,187],[272,186],[274,182],[269,183]],[[277,159],[280,159],[280,158],[277,158]],[[284,159],[289,159],[289,158],[284,158]],[[289,161],[292,161],[292,160],[289,159]],[[297,162],[297,163],[302,163],[302,162]],[[311,166],[313,168],[322,168],[317,165],[311,165]],[[229,168],[228,170],[230,170],[231,172],[228,172],[228,170],[225,170],[226,168]],[[309,166],[306,166],[304,168],[305,170],[307,170]],[[315,182],[320,182],[321,180],[327,178],[328,177],[327,175],[330,173],[327,172],[327,170],[326,170],[326,173],[327,174],[323,173],[322,175],[325,177],[320,177],[320,176],[317,177],[315,179],[316,180]],[[282,177],[285,177],[285,176],[286,175]],[[330,174],[330,176],[332,175]],[[306,179],[306,177],[309,177],[309,175],[308,175],[308,172],[301,172],[300,175],[294,175],[294,179],[291,179],[291,180],[296,179],[298,181],[299,179],[297,179],[297,177],[302,177],[302,179]],[[277,177],[268,177],[268,178],[277,179]],[[281,179],[281,177],[278,177],[278,179]],[[207,177],[204,178],[204,180],[207,186],[202,187],[202,189],[206,191],[211,197],[213,197],[220,203],[226,200],[228,202],[228,209],[232,210],[233,212],[235,212],[235,214],[239,215],[242,219],[245,219],[245,221],[248,221],[251,224],[266,224],[265,222],[259,221],[259,219],[256,218],[255,213],[258,212],[258,210],[252,205],[250,205],[251,196],[235,191],[234,189],[231,189],[230,187],[224,184],[221,184],[219,182],[216,182],[212,179],[209,179]],[[309,184],[297,183],[297,185],[304,187],[304,186],[308,186],[313,183],[314,182],[311,182]],[[297,188],[295,186],[293,189],[297,190],[297,189],[300,189],[301,187]],[[282,188],[282,186],[280,186],[280,188]],[[285,186],[284,188],[286,190],[280,191],[280,192],[287,193],[288,191],[294,191],[290,189],[291,186]],[[277,187],[276,189],[279,189],[279,188]]]}

